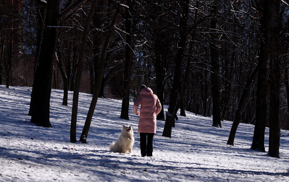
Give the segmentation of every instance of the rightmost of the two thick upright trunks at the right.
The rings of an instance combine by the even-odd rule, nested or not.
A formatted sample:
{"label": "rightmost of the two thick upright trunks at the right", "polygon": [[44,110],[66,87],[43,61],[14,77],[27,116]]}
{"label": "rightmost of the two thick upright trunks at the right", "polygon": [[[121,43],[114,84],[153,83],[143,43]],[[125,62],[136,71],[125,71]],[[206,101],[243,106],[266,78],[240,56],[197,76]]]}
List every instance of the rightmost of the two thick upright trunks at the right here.
{"label": "rightmost of the two thick upright trunks at the right", "polygon": [[269,150],[271,157],[279,156],[280,146],[280,60],[279,60],[279,10],[280,2],[271,1],[271,40],[272,51],[270,63],[270,118],[269,118]]}

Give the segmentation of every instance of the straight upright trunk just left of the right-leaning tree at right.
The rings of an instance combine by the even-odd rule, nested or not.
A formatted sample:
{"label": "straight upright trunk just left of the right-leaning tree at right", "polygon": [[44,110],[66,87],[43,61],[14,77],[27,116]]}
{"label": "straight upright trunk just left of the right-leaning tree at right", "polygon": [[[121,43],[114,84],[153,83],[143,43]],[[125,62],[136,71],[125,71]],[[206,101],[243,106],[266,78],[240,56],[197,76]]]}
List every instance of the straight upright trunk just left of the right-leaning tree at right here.
{"label": "straight upright trunk just left of the right-leaning tree at right", "polygon": [[[217,13],[217,7],[212,7],[212,14]],[[211,31],[215,31],[217,27],[216,17],[212,17],[211,20]],[[213,126],[221,128],[221,93],[220,93],[220,77],[219,77],[219,58],[218,50],[216,46],[217,35],[216,33],[211,33],[210,41],[210,53],[211,53],[211,82],[212,82],[212,101],[213,101]]]}

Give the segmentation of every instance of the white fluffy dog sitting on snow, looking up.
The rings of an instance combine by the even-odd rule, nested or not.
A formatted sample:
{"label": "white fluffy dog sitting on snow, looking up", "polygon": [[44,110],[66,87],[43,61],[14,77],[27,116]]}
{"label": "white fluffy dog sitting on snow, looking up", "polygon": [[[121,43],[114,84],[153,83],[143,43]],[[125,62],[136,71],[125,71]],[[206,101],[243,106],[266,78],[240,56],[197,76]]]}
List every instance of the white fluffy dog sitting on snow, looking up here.
{"label": "white fluffy dog sitting on snow, looking up", "polygon": [[134,131],[132,131],[131,126],[123,125],[121,130],[121,136],[118,138],[117,142],[110,144],[109,149],[118,153],[131,153],[131,148],[134,145]]}

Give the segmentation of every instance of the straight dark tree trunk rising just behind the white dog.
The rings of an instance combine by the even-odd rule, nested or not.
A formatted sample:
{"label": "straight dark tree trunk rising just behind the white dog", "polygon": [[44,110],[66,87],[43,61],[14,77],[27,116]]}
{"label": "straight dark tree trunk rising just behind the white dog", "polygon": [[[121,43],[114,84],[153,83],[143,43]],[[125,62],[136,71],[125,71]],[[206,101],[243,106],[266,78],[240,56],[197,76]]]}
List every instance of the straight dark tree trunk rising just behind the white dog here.
{"label": "straight dark tree trunk rising just behind the white dog", "polygon": [[132,68],[132,36],[131,36],[131,16],[133,7],[131,1],[127,0],[127,8],[125,8],[125,32],[126,32],[126,47],[125,47],[125,68],[124,68],[124,86],[123,86],[123,102],[121,105],[121,119],[129,120],[129,90],[131,81],[131,68]]}

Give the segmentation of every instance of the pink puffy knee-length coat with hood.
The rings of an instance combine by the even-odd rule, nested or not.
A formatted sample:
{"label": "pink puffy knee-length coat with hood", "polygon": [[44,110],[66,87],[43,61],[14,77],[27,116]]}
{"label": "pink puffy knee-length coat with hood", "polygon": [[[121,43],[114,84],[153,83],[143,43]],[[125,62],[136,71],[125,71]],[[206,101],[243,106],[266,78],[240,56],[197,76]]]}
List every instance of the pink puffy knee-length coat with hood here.
{"label": "pink puffy knee-length coat with hood", "polygon": [[153,94],[150,88],[144,88],[140,96],[134,102],[134,114],[138,112],[140,105],[140,120],[138,121],[138,133],[155,133],[157,127],[157,115],[162,109],[158,96]]}

